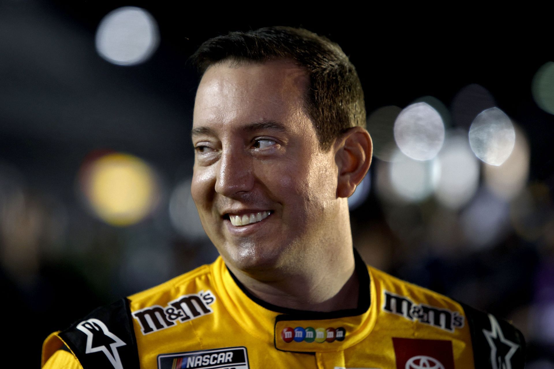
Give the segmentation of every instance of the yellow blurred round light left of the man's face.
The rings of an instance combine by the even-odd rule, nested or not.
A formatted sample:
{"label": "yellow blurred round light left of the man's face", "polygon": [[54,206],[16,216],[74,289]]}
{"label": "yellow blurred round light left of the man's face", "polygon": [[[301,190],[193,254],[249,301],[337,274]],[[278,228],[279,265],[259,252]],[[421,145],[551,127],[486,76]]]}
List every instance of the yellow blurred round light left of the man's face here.
{"label": "yellow blurred round light left of the man's face", "polygon": [[106,223],[118,226],[146,217],[157,192],[150,166],[124,153],[111,153],[91,163],[83,184],[93,211]]}

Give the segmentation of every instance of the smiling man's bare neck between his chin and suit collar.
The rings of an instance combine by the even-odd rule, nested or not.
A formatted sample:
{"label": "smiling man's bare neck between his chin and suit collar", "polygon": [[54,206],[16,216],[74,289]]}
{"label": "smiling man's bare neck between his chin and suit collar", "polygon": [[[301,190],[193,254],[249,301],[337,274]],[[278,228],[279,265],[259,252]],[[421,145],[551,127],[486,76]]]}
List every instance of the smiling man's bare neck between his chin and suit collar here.
{"label": "smiling man's bare neck between his chin and suit collar", "polygon": [[[271,305],[306,311],[355,309],[358,305],[360,280],[355,270],[353,250],[342,249],[332,268],[312,265],[306,273],[283,273],[279,279],[262,279],[259,275],[229,269],[252,295]],[[341,263],[338,263],[341,260]]]}

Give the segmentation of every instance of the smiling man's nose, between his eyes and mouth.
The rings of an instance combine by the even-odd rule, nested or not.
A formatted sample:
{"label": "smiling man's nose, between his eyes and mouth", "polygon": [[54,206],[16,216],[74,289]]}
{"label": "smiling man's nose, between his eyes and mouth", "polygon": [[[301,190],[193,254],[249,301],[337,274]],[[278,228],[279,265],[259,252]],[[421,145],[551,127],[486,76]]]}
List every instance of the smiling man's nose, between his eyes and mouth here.
{"label": "smiling man's nose, between his eyes and mouth", "polygon": [[216,192],[233,197],[248,192],[254,185],[252,159],[236,148],[222,152],[216,179]]}

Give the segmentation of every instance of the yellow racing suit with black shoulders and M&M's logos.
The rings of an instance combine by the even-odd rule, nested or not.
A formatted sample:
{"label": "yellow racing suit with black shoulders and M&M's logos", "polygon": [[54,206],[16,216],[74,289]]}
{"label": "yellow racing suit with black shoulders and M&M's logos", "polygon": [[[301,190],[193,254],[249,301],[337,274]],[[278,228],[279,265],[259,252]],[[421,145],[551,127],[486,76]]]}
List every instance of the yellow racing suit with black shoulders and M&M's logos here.
{"label": "yellow racing suit with black shoulders and M&M's logos", "polygon": [[519,331],[366,266],[357,309],[309,312],[251,295],[223,260],[93,311],[43,345],[50,368],[516,369]]}

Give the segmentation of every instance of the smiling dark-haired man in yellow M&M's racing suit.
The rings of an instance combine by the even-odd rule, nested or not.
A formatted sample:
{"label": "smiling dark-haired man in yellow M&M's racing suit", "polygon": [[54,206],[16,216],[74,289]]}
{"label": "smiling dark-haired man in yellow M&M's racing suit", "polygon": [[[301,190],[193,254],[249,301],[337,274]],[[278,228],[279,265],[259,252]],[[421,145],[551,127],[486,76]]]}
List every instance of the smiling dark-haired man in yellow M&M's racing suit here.
{"label": "smiling dark-haired man in yellow M&M's racing suit", "polygon": [[45,368],[517,368],[520,332],[366,266],[347,198],[371,162],[338,45],[263,28],[204,43],[192,196],[220,258],[95,310]]}

